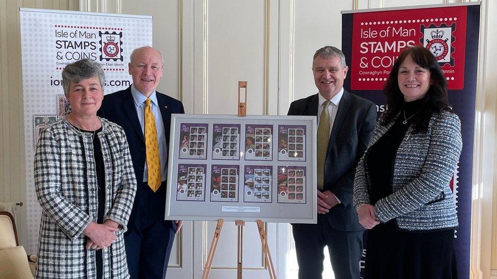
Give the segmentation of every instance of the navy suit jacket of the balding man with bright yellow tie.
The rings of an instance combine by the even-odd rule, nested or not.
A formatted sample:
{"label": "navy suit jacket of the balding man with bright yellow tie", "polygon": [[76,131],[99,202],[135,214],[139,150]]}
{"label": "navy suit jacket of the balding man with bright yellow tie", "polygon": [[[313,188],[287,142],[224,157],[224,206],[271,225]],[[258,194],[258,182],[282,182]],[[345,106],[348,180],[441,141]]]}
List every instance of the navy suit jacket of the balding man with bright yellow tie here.
{"label": "navy suit jacket of the balding man with bright yellow tie", "polygon": [[[157,102],[160,113],[162,114],[162,120],[164,122],[165,141],[167,142],[169,151],[171,114],[185,113],[185,110],[180,101],[159,92],[157,92]],[[141,185],[143,184],[143,170],[146,162],[145,138],[143,136],[140,120],[138,119],[138,114],[136,113],[133,96],[131,95],[131,86],[124,90],[105,95],[102,101],[102,106],[98,110],[97,115],[121,126],[124,129],[126,139],[128,140],[129,151],[131,153],[131,160],[133,161],[133,168],[138,187],[136,188],[133,209],[131,210],[131,215],[128,221],[128,231],[125,234],[127,235],[131,232],[134,221],[139,214],[137,211],[138,204],[140,203],[140,192],[142,189]],[[165,160],[167,163],[168,158],[165,158]],[[161,208],[160,210],[164,210],[164,208]],[[174,222],[173,226],[176,226]]]}

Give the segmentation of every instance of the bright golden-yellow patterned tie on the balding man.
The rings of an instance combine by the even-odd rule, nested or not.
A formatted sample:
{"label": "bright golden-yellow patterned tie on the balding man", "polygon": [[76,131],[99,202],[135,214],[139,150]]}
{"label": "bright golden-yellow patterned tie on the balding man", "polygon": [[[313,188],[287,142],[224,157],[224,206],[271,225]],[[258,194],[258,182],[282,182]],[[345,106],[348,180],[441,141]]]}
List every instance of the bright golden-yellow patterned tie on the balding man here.
{"label": "bright golden-yellow patterned tie on the balding man", "polygon": [[155,192],[160,187],[161,174],[157,129],[150,106],[151,101],[149,98],[145,100],[145,147],[147,149],[148,185]]}

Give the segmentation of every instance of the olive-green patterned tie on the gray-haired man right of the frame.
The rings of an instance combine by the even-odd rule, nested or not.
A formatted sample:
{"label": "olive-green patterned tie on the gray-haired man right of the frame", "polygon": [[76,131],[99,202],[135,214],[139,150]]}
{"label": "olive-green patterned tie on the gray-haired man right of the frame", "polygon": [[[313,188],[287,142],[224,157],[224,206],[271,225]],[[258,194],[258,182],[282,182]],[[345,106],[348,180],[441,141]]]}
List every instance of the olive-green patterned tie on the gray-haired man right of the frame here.
{"label": "olive-green patterned tie on the gray-haired man right of the frame", "polygon": [[317,176],[318,189],[323,190],[324,184],[324,163],[326,161],[326,152],[328,151],[329,141],[329,111],[328,106],[332,102],[326,100],[323,103],[323,112],[319,117],[318,135],[317,135]]}

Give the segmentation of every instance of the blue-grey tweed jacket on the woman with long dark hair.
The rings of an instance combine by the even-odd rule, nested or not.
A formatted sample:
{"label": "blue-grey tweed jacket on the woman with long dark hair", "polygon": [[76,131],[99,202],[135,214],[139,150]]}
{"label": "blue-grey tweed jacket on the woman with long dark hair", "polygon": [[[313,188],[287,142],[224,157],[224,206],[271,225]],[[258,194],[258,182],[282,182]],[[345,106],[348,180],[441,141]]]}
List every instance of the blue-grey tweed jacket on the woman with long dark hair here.
{"label": "blue-grey tweed jacket on the woman with long dark hair", "polygon": [[[371,142],[357,165],[354,206],[370,203],[370,184],[365,158],[393,123],[376,125]],[[449,182],[462,149],[461,123],[456,114],[434,113],[426,133],[407,130],[395,158],[393,194],[379,200],[374,212],[381,222],[396,218],[397,227],[407,231],[432,231],[458,226]]]}

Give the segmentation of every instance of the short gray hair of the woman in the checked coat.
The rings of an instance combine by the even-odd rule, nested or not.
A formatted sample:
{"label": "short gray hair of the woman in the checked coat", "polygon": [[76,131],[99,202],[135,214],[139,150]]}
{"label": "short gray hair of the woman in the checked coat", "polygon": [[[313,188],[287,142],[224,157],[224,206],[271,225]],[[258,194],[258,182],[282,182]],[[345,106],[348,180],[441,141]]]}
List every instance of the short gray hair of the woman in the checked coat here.
{"label": "short gray hair of the woman in the checked coat", "polygon": [[64,95],[66,97],[68,96],[71,81],[78,83],[81,80],[92,77],[98,78],[103,92],[103,87],[105,85],[105,74],[103,73],[102,67],[98,64],[98,62],[85,58],[66,65],[62,71],[62,87],[64,88]]}

